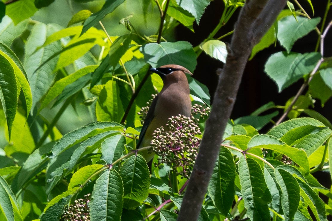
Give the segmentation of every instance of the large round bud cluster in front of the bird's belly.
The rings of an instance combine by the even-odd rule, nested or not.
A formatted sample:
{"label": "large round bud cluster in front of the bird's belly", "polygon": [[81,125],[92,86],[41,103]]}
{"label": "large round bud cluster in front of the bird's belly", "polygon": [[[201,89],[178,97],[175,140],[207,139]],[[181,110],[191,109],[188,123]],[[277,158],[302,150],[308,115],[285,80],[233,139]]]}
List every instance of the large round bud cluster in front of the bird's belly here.
{"label": "large round bud cluster in front of the bird's belly", "polygon": [[166,127],[153,133],[151,148],[159,156],[154,166],[167,164],[177,175],[188,178],[201,142],[195,136],[201,134],[200,128],[194,120],[180,114],[169,118]]}

